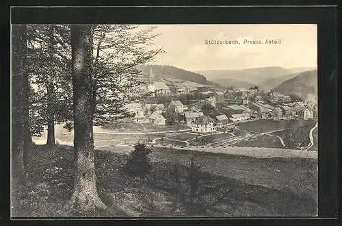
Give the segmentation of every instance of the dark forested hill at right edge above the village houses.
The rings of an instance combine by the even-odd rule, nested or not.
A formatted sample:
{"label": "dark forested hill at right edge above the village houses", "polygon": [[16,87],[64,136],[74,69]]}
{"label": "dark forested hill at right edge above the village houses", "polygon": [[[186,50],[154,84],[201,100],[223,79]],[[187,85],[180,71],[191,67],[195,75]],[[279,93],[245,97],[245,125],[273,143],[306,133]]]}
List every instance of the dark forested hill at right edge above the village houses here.
{"label": "dark forested hill at right edge above the village houses", "polygon": [[308,95],[317,95],[317,70],[305,71],[292,79],[283,81],[274,91],[285,95],[299,95],[304,98]]}

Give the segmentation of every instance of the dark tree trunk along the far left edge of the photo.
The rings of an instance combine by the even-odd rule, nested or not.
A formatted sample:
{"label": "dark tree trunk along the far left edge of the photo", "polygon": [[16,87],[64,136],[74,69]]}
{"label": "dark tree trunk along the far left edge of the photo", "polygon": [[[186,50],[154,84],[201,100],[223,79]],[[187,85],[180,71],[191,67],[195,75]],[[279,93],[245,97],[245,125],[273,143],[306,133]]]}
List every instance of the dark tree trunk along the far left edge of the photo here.
{"label": "dark tree trunk along the far left edge of the photo", "polygon": [[12,202],[16,216],[18,208],[18,184],[25,178],[23,162],[24,119],[23,77],[26,64],[26,25],[12,26]]}

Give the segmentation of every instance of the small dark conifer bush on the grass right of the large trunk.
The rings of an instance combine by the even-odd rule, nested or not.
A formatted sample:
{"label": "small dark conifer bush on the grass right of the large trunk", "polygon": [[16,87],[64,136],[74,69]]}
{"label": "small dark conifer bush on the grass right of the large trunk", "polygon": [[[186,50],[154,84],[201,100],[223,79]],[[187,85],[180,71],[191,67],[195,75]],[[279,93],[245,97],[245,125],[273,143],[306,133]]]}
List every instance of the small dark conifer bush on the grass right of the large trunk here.
{"label": "small dark conifer bush on the grass right of the large trunk", "polygon": [[146,147],[144,143],[137,142],[134,145],[134,150],[129,154],[129,159],[125,165],[125,169],[129,175],[143,176],[150,172],[151,149]]}

